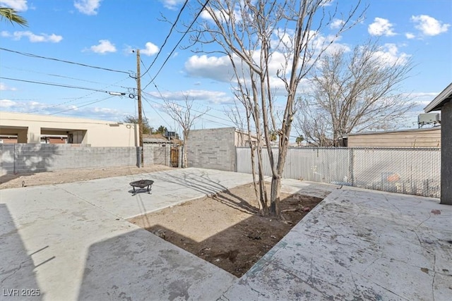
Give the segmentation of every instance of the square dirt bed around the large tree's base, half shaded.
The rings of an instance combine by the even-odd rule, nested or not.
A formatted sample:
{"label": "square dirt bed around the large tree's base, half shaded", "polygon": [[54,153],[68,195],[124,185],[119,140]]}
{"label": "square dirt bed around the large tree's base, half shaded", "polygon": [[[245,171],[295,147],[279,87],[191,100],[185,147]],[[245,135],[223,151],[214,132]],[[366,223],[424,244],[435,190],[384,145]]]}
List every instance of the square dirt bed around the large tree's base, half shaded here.
{"label": "square dirt bed around the large tree's base, half shaded", "polygon": [[322,199],[282,195],[285,222],[258,215],[251,184],[130,220],[240,277]]}

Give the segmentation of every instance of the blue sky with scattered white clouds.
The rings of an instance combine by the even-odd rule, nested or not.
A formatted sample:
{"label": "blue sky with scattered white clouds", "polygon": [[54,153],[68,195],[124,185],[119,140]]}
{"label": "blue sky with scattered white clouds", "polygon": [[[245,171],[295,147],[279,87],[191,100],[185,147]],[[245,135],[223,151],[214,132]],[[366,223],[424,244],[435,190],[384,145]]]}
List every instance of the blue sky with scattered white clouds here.
{"label": "blue sky with scattered white clouds", "polygon": [[[351,2],[338,5],[348,9]],[[195,111],[209,109],[194,128],[234,126],[225,114],[234,102],[228,59],[198,53],[198,47],[189,47],[189,36],[182,36],[184,25],[194,20],[201,6],[189,1],[169,35],[183,4],[184,0],[0,0],[0,7],[16,9],[28,21],[27,27],[0,21],[0,111],[106,121],[137,116],[133,50],[140,49],[143,112],[153,128],[164,125],[181,133],[162,105],[163,99],[183,105],[187,95]],[[365,4],[365,18],[340,35],[335,46],[352,49],[374,37],[388,60],[412,59],[414,68],[402,89],[415,106],[400,128],[417,128],[417,114],[452,81],[452,1]],[[203,18],[201,13],[199,20]]]}

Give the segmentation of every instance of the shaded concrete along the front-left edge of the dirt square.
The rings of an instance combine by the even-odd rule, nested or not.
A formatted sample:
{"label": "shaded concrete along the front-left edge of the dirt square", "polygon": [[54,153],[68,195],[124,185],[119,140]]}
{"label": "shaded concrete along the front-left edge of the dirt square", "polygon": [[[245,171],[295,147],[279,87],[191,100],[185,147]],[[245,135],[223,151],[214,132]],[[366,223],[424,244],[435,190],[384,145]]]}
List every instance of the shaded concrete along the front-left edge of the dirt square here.
{"label": "shaded concrete along the front-left edge of the dirt square", "polygon": [[78,300],[215,300],[234,277],[138,229],[90,245]]}

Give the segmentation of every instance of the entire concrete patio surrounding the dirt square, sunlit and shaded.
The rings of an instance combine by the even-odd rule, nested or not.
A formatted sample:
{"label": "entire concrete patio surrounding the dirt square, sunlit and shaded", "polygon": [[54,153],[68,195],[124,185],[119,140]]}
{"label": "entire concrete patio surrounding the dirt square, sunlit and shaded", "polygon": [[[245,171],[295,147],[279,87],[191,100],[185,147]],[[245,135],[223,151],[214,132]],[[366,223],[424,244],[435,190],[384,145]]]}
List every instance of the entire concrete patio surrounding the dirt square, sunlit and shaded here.
{"label": "entire concrete patio surrounding the dirt square, sunlit and shaded", "polygon": [[[131,197],[141,178],[152,194]],[[284,180],[332,193],[242,278],[126,221],[250,182],[186,168],[0,190],[0,300],[451,300],[452,207],[438,199]]]}

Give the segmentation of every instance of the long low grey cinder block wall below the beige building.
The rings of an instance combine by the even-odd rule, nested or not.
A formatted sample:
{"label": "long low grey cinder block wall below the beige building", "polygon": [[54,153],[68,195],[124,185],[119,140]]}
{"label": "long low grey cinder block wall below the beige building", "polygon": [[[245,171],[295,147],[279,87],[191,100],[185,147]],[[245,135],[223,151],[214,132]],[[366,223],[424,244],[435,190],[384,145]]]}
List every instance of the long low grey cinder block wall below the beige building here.
{"label": "long low grey cinder block wall below the beige building", "polygon": [[133,166],[137,147],[88,147],[81,145],[0,145],[0,173],[55,171],[66,168]]}

